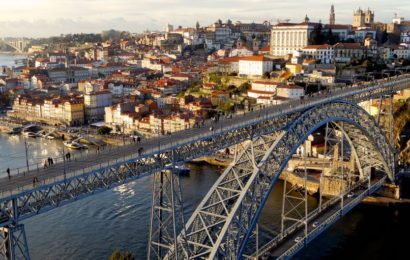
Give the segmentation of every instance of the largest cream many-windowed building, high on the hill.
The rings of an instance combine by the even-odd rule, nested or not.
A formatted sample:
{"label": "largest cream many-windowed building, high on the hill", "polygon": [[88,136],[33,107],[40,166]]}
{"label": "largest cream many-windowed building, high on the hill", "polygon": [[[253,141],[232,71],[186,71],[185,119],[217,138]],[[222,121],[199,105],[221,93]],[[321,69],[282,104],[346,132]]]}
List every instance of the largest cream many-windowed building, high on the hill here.
{"label": "largest cream many-windowed building, high on the hill", "polygon": [[279,23],[272,27],[270,47],[271,55],[285,57],[301,50],[309,44],[310,34],[315,24],[306,19],[303,23]]}

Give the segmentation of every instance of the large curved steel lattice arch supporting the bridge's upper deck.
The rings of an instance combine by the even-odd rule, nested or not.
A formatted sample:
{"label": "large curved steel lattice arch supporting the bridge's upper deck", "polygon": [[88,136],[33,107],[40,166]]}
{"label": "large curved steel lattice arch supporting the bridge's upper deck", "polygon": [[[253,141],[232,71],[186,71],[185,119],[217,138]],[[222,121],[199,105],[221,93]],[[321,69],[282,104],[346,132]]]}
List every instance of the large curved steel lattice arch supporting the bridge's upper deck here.
{"label": "large curved steel lattice arch supporting the bridge's upper deck", "polygon": [[310,134],[336,123],[351,144],[362,175],[374,167],[394,181],[394,152],[383,130],[359,106],[337,101],[316,106],[267,135],[249,138],[178,237],[168,259],[239,259],[278,177]]}

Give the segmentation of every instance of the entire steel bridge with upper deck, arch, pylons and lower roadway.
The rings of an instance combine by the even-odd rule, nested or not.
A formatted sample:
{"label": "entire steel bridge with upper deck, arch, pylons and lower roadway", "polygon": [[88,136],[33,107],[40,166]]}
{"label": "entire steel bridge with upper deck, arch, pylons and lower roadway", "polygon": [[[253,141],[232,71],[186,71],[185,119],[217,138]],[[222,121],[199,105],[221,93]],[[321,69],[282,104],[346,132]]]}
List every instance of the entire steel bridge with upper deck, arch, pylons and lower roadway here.
{"label": "entire steel bridge with upper deck, arch, pylons and lower roadway", "polygon": [[[204,127],[45,169],[12,171],[10,179],[0,179],[0,256],[30,259],[22,220],[148,175],[154,176],[148,258],[291,256],[385,181],[395,181],[392,135],[386,136],[379,119],[357,103],[382,98],[391,101],[394,93],[409,84],[410,75],[402,73],[217,123],[206,122]],[[330,198],[320,195],[319,207],[309,212],[307,189],[289,185],[285,177],[282,225],[277,236],[260,247],[257,223],[270,192],[292,155],[321,128],[326,128],[325,152],[337,149],[341,155],[334,175],[321,176],[336,180],[338,194]],[[233,162],[185,224],[177,166],[232,146],[237,147]],[[352,159],[356,171],[343,166]],[[307,175],[305,168],[305,180]],[[33,177],[39,182],[33,183]]]}

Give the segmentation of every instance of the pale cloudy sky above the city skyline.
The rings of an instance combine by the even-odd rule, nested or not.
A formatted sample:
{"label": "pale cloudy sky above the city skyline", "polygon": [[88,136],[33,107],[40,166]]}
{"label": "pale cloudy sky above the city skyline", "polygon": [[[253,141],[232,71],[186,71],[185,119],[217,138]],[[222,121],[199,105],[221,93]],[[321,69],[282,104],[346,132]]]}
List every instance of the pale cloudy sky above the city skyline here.
{"label": "pale cloudy sky above the city skyline", "polygon": [[[353,11],[370,7],[375,20],[410,13],[408,0],[0,0],[0,37],[47,37],[67,33],[162,30],[166,23],[193,27],[218,19],[275,24],[278,19],[352,23]],[[409,17],[405,17],[410,19]]]}

